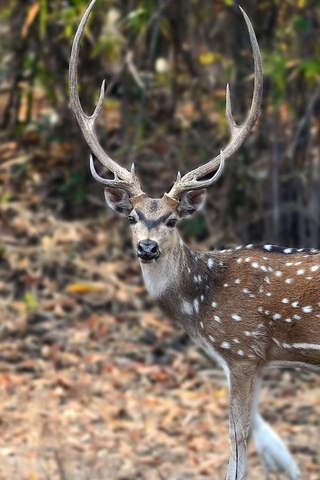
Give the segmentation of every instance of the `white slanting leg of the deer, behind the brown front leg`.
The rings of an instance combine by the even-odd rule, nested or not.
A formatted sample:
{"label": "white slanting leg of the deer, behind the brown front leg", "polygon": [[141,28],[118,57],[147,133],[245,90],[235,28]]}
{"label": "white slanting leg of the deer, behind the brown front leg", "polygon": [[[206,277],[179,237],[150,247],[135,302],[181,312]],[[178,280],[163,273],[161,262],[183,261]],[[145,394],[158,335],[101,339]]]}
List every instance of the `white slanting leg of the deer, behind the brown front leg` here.
{"label": "white slanting leg of the deer, behind the brown front leg", "polygon": [[259,413],[259,393],[261,381],[256,384],[255,404],[252,417],[252,436],[261,457],[266,480],[271,472],[285,473],[289,480],[299,480],[299,468],[279,435]]}

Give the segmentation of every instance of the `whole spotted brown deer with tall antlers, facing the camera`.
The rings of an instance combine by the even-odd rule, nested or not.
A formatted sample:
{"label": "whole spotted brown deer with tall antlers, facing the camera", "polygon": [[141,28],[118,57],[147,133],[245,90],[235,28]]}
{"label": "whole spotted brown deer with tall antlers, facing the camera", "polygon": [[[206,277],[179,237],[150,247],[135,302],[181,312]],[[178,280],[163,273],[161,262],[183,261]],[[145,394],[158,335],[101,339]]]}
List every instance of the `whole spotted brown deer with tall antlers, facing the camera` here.
{"label": "whole spotted brown deer with tall antlers, facing the camera", "polygon": [[[231,451],[227,480],[247,478],[250,431],[269,472],[300,478],[289,450],[259,413],[262,372],[267,366],[320,366],[320,253],[317,250],[247,245],[229,250],[191,250],[176,228],[181,218],[198,211],[207,187],[222,174],[225,160],[242,145],[260,113],[262,61],[257,39],[244,17],[254,59],[250,111],[237,125],[226,89],[226,117],[231,139],[213,159],[181,176],[162,198],[141,188],[134,166],[121,167],[103,150],[95,124],[103,106],[105,82],[92,115],[84,113],[78,95],[80,40],[95,4],[87,7],[72,47],[69,66],[70,105],[91,150],[90,169],[104,185],[106,203],[127,217],[146,289],[163,311],[224,370],[229,386]],[[96,158],[113,178],[102,177]]]}

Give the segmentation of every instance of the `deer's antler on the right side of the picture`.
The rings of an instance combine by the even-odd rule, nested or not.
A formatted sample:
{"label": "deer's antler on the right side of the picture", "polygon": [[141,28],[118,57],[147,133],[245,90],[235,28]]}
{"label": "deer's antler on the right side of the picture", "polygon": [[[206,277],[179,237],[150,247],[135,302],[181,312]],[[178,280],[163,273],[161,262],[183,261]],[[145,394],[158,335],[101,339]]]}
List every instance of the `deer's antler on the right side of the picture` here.
{"label": "deer's antler on the right side of the picture", "polygon": [[[204,165],[195,168],[191,172],[186,173],[182,178],[178,173],[177,180],[175,181],[173,187],[167,196],[178,200],[180,194],[185,190],[196,190],[199,188],[204,188],[212,185],[218,180],[222,174],[224,167],[224,160],[229,158],[234,152],[236,152],[242,143],[245,141],[248,136],[251,128],[257,121],[260,114],[260,106],[262,100],[262,90],[263,90],[263,71],[262,71],[262,60],[259,45],[252,27],[252,24],[249,20],[246,12],[239,7],[241,13],[245,19],[249,36],[250,43],[253,53],[254,60],[254,89],[253,97],[251,102],[251,107],[249,114],[242,125],[237,125],[232,116],[231,109],[231,99],[230,99],[230,89],[229,85],[226,88],[226,117],[229,124],[229,129],[231,133],[231,139],[225,147],[225,149],[220,151],[220,154],[217,155],[212,160],[209,160]],[[201,180],[203,177],[210,175],[219,165],[218,171],[209,179]]]}

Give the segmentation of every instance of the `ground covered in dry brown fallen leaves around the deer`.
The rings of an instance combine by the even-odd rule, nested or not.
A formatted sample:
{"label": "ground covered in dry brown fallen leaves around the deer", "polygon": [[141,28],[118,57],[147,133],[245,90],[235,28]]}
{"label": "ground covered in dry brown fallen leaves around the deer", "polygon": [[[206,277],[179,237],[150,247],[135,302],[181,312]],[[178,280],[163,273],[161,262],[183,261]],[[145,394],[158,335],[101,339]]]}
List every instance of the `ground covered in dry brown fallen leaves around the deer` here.
{"label": "ground covered in dry brown fallen leaves around the deer", "polygon": [[[124,223],[102,206],[94,219],[61,219],[39,191],[11,195],[7,174],[0,479],[224,478],[223,374],[146,296]],[[318,377],[266,374],[262,410],[303,479],[318,480]],[[252,446],[249,453],[250,478],[262,479]]]}

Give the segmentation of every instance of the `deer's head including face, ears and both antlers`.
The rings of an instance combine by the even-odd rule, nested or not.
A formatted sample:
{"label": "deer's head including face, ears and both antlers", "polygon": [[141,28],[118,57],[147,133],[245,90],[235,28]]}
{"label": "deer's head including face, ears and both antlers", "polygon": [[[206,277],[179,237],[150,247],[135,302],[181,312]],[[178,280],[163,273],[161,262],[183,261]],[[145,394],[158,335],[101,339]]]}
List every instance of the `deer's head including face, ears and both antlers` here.
{"label": "deer's head including face, ears and both antlers", "polygon": [[[160,199],[150,198],[141,188],[134,165],[131,170],[121,167],[103,150],[95,132],[95,124],[103,106],[105,81],[103,81],[97,106],[92,115],[87,115],[80,104],[78,94],[77,66],[80,40],[95,4],[87,7],[76,32],[69,66],[70,106],[78,121],[82,134],[91,150],[90,169],[93,177],[104,185],[107,204],[120,215],[128,218],[134,247],[142,262],[157,261],[179,243],[176,224],[179,219],[198,211],[205,201],[206,189],[221,176],[224,163],[242,145],[259,113],[262,98],[263,72],[258,42],[251,22],[240,8],[246,22],[254,59],[254,90],[251,107],[243,124],[237,125],[232,116],[230,89],[226,88],[226,116],[230,128],[230,141],[220,153],[194,170],[181,176]],[[113,179],[101,177],[94,166],[94,157],[110,172]]]}

